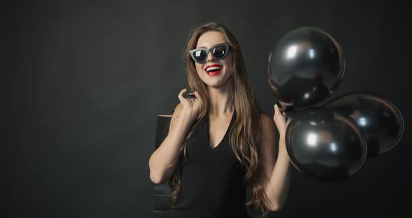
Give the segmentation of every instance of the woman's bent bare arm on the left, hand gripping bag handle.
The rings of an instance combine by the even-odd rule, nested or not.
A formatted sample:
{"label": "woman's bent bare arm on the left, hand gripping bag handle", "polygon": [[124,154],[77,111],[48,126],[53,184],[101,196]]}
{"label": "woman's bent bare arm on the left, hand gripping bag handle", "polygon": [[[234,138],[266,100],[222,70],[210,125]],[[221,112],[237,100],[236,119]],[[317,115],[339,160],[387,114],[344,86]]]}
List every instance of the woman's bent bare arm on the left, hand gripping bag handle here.
{"label": "woman's bent bare arm on the left, hand gripping bag handle", "polygon": [[186,138],[186,134],[200,110],[200,97],[195,92],[196,99],[184,99],[186,89],[179,93],[180,103],[173,112],[170,120],[168,136],[161,145],[153,152],[149,159],[150,180],[155,184],[167,181],[175,170],[179,158],[180,147]]}

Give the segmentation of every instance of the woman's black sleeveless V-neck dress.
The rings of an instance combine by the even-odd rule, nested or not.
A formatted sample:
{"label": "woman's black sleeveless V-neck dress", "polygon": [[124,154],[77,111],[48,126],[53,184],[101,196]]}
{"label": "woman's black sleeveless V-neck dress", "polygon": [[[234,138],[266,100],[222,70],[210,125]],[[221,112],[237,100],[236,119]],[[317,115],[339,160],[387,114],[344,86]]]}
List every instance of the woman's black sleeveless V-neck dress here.
{"label": "woman's black sleeveless V-neck dress", "polygon": [[246,170],[229,142],[235,115],[215,148],[209,143],[209,118],[188,139],[187,156],[180,169],[180,201],[171,208],[171,217],[249,217],[245,206]]}

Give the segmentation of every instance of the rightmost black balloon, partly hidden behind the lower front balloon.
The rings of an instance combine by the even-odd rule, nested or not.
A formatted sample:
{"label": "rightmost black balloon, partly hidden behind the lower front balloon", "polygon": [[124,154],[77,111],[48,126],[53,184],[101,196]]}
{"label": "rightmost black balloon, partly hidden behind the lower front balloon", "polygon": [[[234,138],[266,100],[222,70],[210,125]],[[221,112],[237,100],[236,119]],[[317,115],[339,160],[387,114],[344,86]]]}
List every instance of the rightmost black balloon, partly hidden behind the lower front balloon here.
{"label": "rightmost black balloon, partly hidden behind the lower front balloon", "polygon": [[365,133],[367,157],[389,152],[404,132],[404,119],[399,109],[387,99],[367,92],[353,92],[324,103],[358,123]]}

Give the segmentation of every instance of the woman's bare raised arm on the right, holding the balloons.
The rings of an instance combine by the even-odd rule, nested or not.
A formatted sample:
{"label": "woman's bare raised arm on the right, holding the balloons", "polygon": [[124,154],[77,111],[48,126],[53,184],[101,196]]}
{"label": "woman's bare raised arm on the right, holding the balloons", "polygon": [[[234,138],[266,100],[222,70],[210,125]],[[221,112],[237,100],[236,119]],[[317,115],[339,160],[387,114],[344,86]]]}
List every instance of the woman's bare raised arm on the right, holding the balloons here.
{"label": "woman's bare raised arm on the right, holding the balloons", "polygon": [[[286,151],[285,132],[286,121],[284,115],[274,106],[274,119],[262,115],[262,161],[264,173],[265,194],[269,198],[270,205],[267,208],[277,211],[283,208],[288,195],[290,185],[291,163]],[[274,122],[273,122],[274,121]],[[279,139],[276,137],[275,124],[279,131]],[[278,144],[279,141],[279,144]],[[279,147],[277,147],[277,145]],[[276,158],[276,148],[279,149]]]}

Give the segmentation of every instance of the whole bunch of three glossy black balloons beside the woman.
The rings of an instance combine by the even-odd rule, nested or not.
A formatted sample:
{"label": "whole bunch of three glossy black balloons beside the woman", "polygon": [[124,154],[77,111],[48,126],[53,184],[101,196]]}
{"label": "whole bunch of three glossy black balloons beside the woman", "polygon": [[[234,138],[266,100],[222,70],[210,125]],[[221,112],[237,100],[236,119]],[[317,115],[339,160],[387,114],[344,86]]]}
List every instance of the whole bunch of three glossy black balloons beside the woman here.
{"label": "whole bunch of three glossy black balloons beside the woman", "polygon": [[382,96],[352,92],[327,100],[341,84],[345,66],[341,45],[318,27],[289,31],[267,60],[270,90],[290,121],[290,161],[314,180],[353,176],[367,157],[388,153],[404,133],[402,113]]}

